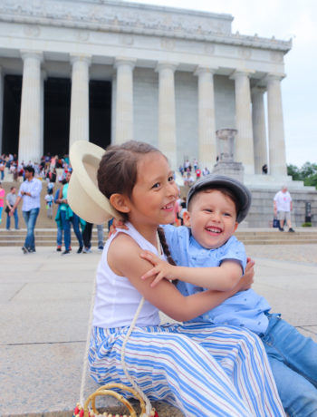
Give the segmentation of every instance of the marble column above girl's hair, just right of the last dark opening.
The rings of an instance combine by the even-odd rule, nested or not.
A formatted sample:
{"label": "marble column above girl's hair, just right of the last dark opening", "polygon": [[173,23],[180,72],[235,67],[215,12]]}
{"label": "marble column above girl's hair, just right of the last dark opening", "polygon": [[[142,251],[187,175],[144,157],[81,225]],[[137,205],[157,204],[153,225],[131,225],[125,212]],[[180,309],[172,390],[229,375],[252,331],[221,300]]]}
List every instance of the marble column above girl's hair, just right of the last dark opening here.
{"label": "marble column above girl's hair, just right of the last dark opening", "polygon": [[136,61],[117,58],[115,143],[133,140],[133,69]]}

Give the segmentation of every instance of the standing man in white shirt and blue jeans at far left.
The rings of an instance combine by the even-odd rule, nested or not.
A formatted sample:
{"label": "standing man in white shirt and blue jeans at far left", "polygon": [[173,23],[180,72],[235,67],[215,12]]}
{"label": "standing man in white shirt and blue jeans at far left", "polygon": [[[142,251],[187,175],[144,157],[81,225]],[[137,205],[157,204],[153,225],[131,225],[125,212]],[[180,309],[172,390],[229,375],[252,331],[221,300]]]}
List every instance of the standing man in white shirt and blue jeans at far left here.
{"label": "standing man in white shirt and blue jeans at far left", "polygon": [[35,252],[34,228],[36,218],[39,214],[41,202],[42,182],[34,178],[34,168],[30,165],[24,168],[25,180],[21,184],[14,207],[10,211],[10,216],[14,214],[21,199],[23,199],[22,214],[26,225],[26,238],[22,250],[24,254]]}

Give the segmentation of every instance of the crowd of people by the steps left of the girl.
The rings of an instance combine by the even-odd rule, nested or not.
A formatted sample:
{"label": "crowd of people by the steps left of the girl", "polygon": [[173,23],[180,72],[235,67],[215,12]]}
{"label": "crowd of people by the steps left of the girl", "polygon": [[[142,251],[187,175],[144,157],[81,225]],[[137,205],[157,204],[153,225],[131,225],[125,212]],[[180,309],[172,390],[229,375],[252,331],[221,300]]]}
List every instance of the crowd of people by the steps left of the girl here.
{"label": "crowd of people by the steps left of the girl", "polygon": [[[91,230],[92,224],[79,218],[67,202],[68,182],[72,175],[72,167],[68,155],[59,158],[57,155],[44,155],[39,162],[29,162],[28,165],[18,163],[16,155],[2,155],[0,167],[3,166],[13,174],[13,179],[22,177],[23,182],[16,192],[12,186],[10,192],[5,196],[5,189],[0,182],[0,224],[2,211],[5,207],[6,224],[5,228],[11,230],[11,219],[14,218],[14,230],[19,229],[18,205],[22,200],[22,214],[26,226],[26,237],[22,250],[24,254],[35,252],[34,228],[41,208],[41,192],[46,187],[44,197],[47,217],[55,220],[57,225],[56,250],[62,255],[68,255],[71,247],[71,226],[78,240],[77,253],[91,253]],[[4,172],[5,170],[1,170]],[[17,175],[16,175],[17,172]],[[56,216],[53,217],[53,207],[56,209]],[[103,226],[98,225],[98,248],[103,249]],[[62,251],[62,239],[65,249]]]}

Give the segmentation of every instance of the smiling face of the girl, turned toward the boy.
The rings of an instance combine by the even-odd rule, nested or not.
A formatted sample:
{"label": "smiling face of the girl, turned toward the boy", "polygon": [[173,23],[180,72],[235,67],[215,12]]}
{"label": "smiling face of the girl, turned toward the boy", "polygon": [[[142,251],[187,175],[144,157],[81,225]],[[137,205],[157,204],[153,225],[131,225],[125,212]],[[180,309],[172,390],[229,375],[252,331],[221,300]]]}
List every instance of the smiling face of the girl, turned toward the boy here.
{"label": "smiling face of the girl, turned toward the boy", "polygon": [[177,197],[178,187],[168,160],[159,152],[142,156],[128,203],[130,222],[138,228],[157,228],[159,224],[172,223]]}

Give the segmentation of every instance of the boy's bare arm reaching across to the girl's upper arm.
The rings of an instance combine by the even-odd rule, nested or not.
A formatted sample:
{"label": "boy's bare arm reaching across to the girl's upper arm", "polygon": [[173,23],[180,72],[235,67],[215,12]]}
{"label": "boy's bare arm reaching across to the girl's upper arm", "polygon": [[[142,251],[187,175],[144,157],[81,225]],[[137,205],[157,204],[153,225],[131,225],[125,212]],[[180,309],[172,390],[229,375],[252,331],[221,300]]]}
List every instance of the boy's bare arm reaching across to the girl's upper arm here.
{"label": "boy's bare arm reaching across to the girl's upper arm", "polygon": [[241,265],[235,260],[226,260],[220,267],[177,267],[149,251],[142,252],[140,256],[154,266],[141,276],[142,279],[155,276],[151,286],[156,286],[162,278],[167,278],[217,291],[230,291],[235,288],[243,273]]}

